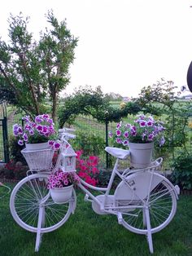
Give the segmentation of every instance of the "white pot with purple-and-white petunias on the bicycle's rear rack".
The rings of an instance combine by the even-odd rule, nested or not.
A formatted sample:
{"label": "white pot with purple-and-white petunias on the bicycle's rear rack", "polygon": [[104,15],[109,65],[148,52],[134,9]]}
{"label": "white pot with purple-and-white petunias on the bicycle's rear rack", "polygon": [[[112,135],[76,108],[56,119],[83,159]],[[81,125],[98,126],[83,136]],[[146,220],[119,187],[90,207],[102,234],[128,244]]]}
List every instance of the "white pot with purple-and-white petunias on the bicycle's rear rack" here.
{"label": "white pot with purple-and-white petunias on the bicycle's rear rack", "polygon": [[154,143],[159,143],[160,147],[164,144],[164,130],[162,121],[141,114],[133,124],[117,123],[116,131],[110,131],[109,137],[115,139],[115,143],[129,147],[131,166],[145,168],[151,164]]}

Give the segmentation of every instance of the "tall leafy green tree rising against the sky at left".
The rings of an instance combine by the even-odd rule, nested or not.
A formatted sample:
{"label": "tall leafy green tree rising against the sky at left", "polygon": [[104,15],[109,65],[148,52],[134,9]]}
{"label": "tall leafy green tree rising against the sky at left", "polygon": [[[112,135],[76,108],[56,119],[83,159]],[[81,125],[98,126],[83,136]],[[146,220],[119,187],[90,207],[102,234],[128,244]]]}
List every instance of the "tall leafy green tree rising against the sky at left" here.
{"label": "tall leafy green tree rising against the sky at left", "polygon": [[59,23],[52,11],[46,15],[51,29],[41,33],[39,42],[28,33],[28,17],[9,19],[10,44],[0,40],[1,98],[29,114],[45,112],[45,98],[51,100],[55,119],[59,91],[70,82],[68,71],[74,60],[77,38]]}

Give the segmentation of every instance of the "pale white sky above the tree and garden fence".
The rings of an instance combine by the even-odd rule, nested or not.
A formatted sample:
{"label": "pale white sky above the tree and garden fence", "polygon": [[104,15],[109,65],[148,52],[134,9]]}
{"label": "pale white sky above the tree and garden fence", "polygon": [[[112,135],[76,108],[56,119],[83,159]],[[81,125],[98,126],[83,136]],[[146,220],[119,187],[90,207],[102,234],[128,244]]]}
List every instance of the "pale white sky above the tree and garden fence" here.
{"label": "pale white sky above the tree and garden fence", "polygon": [[88,85],[137,97],[142,87],[162,77],[179,88],[186,85],[192,61],[190,6],[192,0],[7,0],[0,8],[0,36],[8,40],[10,13],[22,11],[38,40],[52,9],[79,38],[64,92]]}

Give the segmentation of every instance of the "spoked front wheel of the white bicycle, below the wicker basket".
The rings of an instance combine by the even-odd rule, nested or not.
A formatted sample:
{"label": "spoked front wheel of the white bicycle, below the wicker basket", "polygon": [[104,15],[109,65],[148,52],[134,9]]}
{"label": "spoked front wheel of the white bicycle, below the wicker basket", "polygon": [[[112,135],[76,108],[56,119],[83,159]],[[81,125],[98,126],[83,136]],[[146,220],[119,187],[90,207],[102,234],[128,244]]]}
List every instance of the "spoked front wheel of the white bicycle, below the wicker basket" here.
{"label": "spoked front wheel of the white bicycle, below the wicker basket", "polygon": [[75,191],[72,200],[55,204],[47,189],[48,174],[32,174],[22,179],[11,193],[10,210],[15,222],[28,230],[37,232],[41,207],[41,233],[52,232],[65,223],[75,207]]}

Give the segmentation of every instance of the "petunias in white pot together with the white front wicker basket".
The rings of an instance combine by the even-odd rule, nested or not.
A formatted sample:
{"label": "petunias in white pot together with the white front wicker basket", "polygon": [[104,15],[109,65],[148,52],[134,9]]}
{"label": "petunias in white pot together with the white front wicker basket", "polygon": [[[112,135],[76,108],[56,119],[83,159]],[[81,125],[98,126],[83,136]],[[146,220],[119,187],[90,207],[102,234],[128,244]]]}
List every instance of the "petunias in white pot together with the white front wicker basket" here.
{"label": "petunias in white pot together with the white front wicker basket", "polygon": [[30,170],[49,170],[52,158],[60,143],[55,140],[55,126],[48,114],[34,117],[34,121],[26,116],[22,118],[23,125],[13,126],[13,135],[18,139],[21,150]]}

